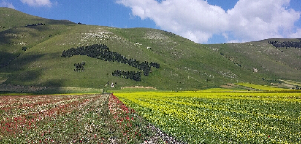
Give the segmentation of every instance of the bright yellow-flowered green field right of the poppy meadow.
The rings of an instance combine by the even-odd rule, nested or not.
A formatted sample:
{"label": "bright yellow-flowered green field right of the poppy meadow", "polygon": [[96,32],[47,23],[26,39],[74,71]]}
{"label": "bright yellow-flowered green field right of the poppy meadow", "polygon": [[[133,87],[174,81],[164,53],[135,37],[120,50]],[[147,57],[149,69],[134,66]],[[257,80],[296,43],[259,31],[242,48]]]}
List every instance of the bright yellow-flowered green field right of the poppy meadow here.
{"label": "bright yellow-flowered green field right of the poppy meadow", "polygon": [[301,143],[299,92],[115,93],[185,143]]}

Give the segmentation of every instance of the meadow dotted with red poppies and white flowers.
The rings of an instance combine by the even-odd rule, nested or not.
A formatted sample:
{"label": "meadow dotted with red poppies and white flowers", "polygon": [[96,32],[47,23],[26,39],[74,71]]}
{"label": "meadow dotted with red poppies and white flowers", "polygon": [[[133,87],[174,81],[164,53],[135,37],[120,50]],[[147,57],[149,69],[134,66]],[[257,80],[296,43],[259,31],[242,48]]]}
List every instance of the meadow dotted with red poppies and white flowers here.
{"label": "meadow dotted with red poppies and white flowers", "polygon": [[0,96],[0,143],[143,143],[137,113],[112,94]]}

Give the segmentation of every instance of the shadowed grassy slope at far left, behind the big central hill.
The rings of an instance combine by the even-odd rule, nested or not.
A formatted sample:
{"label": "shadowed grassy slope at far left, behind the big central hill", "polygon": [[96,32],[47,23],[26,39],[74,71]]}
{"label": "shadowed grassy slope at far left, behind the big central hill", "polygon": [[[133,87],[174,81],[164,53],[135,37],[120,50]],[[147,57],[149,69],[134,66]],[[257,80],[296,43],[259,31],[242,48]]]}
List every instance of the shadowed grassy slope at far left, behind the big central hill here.
{"label": "shadowed grassy slope at far left, behind the big central hill", "polygon": [[[51,20],[31,16],[11,8],[0,8],[0,68],[8,65],[22,54],[23,46],[30,49],[74,24],[67,20]],[[45,26],[24,27],[28,24],[43,23]]]}

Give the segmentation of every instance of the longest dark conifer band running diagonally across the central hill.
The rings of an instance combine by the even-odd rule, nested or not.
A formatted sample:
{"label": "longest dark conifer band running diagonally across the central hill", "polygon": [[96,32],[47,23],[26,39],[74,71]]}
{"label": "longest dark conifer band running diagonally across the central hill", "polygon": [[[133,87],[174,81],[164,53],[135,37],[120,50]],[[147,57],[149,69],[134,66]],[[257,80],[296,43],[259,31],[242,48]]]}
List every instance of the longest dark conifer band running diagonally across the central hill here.
{"label": "longest dark conifer band running diagonally across the central hill", "polygon": [[160,68],[160,64],[156,62],[140,62],[136,59],[128,59],[125,56],[119,54],[118,52],[113,52],[109,50],[109,47],[103,44],[93,44],[91,46],[81,46],[71,49],[64,50],[62,57],[71,57],[73,55],[87,55],[92,58],[98,58],[104,61],[116,61],[123,64],[128,64],[132,67],[136,67],[143,71],[145,76],[148,76],[151,72],[151,67]]}

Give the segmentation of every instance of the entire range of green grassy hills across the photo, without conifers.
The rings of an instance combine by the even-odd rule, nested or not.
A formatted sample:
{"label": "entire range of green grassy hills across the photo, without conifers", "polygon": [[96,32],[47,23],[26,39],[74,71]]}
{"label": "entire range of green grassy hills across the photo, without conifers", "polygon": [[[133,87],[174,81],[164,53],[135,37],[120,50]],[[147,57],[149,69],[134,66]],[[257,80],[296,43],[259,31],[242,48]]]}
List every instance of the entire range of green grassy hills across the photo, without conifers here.
{"label": "entire range of green grassy hills across the photo, without conifers", "polygon": [[[0,15],[0,26],[5,27],[0,32],[2,84],[103,89],[149,86],[159,90],[198,90],[234,82],[268,85],[272,80],[301,79],[298,76],[301,74],[300,65],[290,63],[300,61],[299,53],[295,52],[298,49],[281,52],[267,40],[251,44],[203,45],[158,29],[78,25],[30,16],[8,8],[0,8],[0,11],[5,13]],[[18,17],[24,19],[19,20]],[[24,27],[36,23],[44,25]],[[159,63],[160,68],[152,67],[149,76],[142,75],[141,81],[136,82],[111,75],[114,70],[141,71],[127,64],[83,55],[61,57],[64,50],[93,44],[106,44],[110,51],[140,62]],[[24,46],[26,51],[22,50]],[[258,54],[258,49],[262,49],[262,54]],[[281,56],[275,58],[274,53],[264,53],[269,49],[287,56],[282,59]],[[83,61],[86,63],[85,72],[74,72],[74,64]],[[254,73],[253,68],[259,71]],[[108,82],[109,85],[116,83],[115,88],[110,88]]]}

